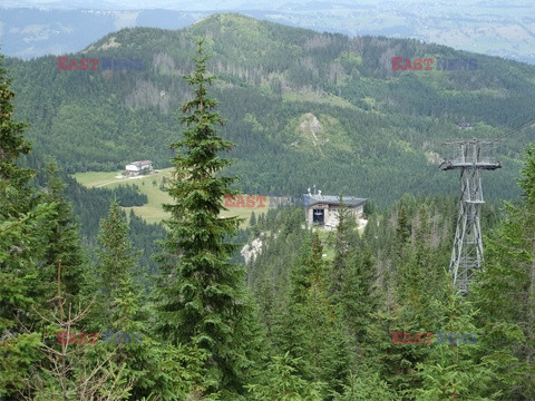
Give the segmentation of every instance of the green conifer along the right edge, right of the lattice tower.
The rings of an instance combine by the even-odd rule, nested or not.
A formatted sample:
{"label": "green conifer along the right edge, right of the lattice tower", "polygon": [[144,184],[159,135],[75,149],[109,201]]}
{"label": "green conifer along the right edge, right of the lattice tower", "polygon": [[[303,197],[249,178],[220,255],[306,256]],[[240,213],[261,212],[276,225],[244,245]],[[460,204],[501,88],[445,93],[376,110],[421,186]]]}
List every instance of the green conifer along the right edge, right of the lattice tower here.
{"label": "green conifer along the right edge, right of the lattice tower", "polygon": [[[469,295],[480,310],[481,352],[494,391],[535,398],[535,146],[521,172],[522,202],[505,204],[505,221],[485,243],[484,270]],[[506,390],[503,390],[506,389]]]}

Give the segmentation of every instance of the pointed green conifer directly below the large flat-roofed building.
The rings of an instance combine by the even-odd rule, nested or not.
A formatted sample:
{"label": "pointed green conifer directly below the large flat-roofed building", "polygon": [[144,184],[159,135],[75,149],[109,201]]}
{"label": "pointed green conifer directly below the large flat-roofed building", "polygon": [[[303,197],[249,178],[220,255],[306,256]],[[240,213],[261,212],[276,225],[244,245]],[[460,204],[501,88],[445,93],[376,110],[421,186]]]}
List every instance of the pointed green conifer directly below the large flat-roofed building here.
{"label": "pointed green conifer directly below the large flat-roofed building", "polygon": [[299,365],[296,373],[311,383],[328,383],[331,392],[343,391],[351,355],[340,320],[340,309],[329,294],[329,274],[322,260],[323,245],[318,233],[303,250],[302,261],[292,273],[292,292],[280,327],[279,345]]}

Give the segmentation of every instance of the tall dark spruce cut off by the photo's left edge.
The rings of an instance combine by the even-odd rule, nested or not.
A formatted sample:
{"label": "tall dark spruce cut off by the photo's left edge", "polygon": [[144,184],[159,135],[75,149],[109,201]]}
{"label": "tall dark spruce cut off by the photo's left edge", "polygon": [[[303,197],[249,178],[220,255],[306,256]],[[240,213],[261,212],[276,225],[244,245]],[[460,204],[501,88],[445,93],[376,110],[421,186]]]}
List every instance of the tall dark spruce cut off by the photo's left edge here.
{"label": "tall dark spruce cut off by the photo's left edge", "polygon": [[25,326],[36,323],[31,307],[41,296],[39,264],[43,257],[43,223],[54,214],[39,205],[29,185],[33,172],[17,166],[31,147],[23,123],[12,119],[14,92],[0,55],[0,398],[25,387],[31,363],[39,359],[39,334]]}

